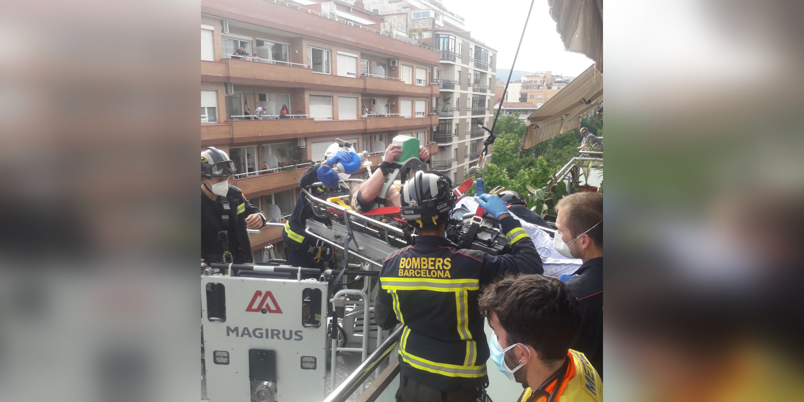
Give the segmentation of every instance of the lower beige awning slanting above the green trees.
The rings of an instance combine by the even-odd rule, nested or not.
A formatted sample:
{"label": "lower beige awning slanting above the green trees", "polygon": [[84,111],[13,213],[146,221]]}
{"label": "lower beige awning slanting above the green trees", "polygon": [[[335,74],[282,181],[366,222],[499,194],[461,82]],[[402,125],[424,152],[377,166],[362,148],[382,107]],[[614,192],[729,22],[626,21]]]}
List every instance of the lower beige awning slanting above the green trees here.
{"label": "lower beige awning slanting above the green trees", "polygon": [[523,150],[580,127],[580,117],[603,102],[603,74],[594,64],[527,117]]}

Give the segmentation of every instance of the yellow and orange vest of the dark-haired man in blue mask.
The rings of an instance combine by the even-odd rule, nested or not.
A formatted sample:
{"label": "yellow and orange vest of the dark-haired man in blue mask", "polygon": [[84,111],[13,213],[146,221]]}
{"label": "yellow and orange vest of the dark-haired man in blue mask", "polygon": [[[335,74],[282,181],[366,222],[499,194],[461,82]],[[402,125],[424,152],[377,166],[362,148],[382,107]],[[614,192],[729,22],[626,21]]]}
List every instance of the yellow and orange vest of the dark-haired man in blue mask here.
{"label": "yellow and orange vest of the dark-haired man in blue mask", "polygon": [[[552,381],[544,388],[545,392],[558,392],[553,402],[600,402],[603,400],[603,380],[597,375],[586,356],[570,349],[567,352],[569,364],[567,373],[559,382]],[[558,386],[558,390],[556,390]],[[519,402],[544,402],[544,395],[533,395],[531,388],[526,388],[519,396]]]}

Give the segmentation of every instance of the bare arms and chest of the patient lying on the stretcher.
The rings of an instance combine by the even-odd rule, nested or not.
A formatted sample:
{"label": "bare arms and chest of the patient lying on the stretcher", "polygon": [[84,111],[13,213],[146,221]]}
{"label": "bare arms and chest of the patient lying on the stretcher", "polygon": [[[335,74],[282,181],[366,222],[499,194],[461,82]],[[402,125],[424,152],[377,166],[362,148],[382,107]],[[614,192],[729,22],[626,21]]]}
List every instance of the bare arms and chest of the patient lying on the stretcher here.
{"label": "bare arms and chest of the patient lying on the stretcher", "polygon": [[[377,203],[379,207],[396,207],[396,212],[399,212],[401,205],[399,189],[395,186],[389,187],[384,199],[379,198],[379,192],[382,190],[385,177],[392,170],[390,166],[394,163],[394,159],[400,158],[401,154],[402,146],[399,144],[388,146],[383,156],[383,162],[371,173],[371,177],[352,188],[349,193],[349,205],[351,205],[352,209],[360,213],[367,213]],[[430,153],[424,146],[419,148],[419,158],[422,162],[427,162],[430,159]]]}

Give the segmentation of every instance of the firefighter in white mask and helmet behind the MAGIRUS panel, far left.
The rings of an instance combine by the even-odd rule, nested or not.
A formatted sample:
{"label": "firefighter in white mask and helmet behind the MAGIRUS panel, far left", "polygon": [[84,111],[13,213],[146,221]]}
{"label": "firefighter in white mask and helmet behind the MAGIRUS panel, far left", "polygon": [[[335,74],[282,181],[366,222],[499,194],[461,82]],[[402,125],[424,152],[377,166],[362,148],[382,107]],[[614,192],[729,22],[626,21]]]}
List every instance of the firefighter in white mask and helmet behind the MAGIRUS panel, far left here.
{"label": "firefighter in white mask and helmet behind the MAGIRUS panel, far left", "polygon": [[215,147],[201,153],[201,258],[204,262],[254,262],[246,228],[262,228],[265,214],[245,199],[228,178],[236,171]]}

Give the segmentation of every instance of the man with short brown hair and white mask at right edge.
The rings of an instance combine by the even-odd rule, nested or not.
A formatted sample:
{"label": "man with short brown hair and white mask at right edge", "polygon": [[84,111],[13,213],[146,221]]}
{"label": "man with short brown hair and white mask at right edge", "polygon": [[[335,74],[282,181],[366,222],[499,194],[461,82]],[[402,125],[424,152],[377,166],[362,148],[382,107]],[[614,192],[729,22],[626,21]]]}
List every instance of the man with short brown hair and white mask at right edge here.
{"label": "man with short brown hair and white mask at right edge", "polygon": [[553,248],[568,258],[583,261],[567,281],[584,308],[584,323],[572,348],[584,352],[602,378],[603,195],[590,192],[568,195],[558,202],[556,211]]}

